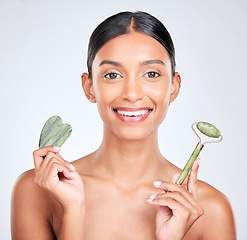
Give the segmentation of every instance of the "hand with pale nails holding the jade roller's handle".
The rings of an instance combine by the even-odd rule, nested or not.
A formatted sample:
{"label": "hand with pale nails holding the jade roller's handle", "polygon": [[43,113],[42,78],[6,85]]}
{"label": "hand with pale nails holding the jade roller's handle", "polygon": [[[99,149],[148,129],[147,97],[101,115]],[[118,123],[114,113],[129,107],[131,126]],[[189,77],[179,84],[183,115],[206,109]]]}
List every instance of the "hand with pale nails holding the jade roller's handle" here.
{"label": "hand with pale nails holding the jade roller's handle", "polygon": [[156,216],[156,234],[159,240],[181,240],[193,223],[202,216],[204,210],[198,201],[197,159],[189,175],[187,189],[175,184],[179,174],[175,174],[171,183],[154,182],[156,188],[165,190],[150,197],[148,202],[158,205]]}

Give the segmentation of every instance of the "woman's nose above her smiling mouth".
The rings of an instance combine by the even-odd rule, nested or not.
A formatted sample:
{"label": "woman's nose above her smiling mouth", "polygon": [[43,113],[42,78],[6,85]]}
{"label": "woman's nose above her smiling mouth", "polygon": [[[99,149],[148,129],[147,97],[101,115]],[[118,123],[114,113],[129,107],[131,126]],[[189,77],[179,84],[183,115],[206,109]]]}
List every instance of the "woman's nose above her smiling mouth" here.
{"label": "woman's nose above her smiling mouth", "polygon": [[136,102],[143,98],[143,86],[139,78],[126,78],[122,86],[121,98],[130,102]]}

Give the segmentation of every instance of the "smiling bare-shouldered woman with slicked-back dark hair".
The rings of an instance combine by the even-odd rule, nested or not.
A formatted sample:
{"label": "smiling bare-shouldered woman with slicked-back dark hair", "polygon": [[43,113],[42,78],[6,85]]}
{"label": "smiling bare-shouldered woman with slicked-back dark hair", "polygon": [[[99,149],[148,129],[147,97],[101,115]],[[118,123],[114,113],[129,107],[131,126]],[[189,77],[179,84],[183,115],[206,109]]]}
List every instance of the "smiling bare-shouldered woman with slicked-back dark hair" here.
{"label": "smiling bare-shouldered woman with slicked-back dark hair", "polygon": [[[104,123],[100,147],[72,164],[60,148],[34,151],[35,169],[12,196],[13,239],[235,239],[231,207],[158,147],[158,126],[180,89],[166,28],[143,12],[102,22],[88,48],[82,86]],[[34,181],[33,181],[34,180]]]}

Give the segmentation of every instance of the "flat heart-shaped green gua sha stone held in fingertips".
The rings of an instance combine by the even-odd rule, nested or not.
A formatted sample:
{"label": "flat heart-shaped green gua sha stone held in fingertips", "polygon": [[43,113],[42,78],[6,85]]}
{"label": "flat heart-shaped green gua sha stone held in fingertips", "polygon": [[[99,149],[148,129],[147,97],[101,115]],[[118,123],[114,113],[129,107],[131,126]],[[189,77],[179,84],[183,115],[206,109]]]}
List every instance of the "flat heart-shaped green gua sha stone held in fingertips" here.
{"label": "flat heart-shaped green gua sha stone held in fingertips", "polygon": [[72,127],[68,123],[63,123],[59,116],[50,117],[39,138],[39,148],[46,146],[61,147],[72,132]]}

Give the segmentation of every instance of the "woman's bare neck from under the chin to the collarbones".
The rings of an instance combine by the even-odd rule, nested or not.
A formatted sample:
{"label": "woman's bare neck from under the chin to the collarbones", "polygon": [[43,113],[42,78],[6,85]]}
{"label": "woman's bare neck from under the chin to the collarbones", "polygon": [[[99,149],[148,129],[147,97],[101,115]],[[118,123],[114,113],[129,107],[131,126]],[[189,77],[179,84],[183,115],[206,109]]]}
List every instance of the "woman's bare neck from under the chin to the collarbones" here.
{"label": "woman's bare neck from under the chin to the collarbones", "polygon": [[155,180],[164,162],[157,134],[156,131],[141,140],[126,140],[104,130],[102,144],[95,153],[96,168],[125,185]]}

